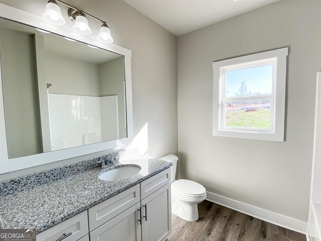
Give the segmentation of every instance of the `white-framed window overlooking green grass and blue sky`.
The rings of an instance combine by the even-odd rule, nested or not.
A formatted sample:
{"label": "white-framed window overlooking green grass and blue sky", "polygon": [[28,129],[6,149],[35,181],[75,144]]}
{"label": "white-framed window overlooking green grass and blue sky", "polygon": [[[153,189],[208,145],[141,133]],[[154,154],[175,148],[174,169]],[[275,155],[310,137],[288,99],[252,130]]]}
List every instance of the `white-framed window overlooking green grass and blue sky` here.
{"label": "white-framed window overlooking green grass and blue sky", "polygon": [[213,136],[284,141],[287,48],[213,63]]}

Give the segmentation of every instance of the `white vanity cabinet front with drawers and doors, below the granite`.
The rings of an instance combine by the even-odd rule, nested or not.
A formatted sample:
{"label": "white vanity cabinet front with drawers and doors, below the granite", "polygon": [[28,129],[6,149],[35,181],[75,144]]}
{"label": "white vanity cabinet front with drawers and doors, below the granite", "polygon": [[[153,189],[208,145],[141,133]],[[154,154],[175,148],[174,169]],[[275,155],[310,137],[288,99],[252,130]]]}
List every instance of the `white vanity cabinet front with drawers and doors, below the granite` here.
{"label": "white vanity cabinet front with drawers and doors, below the granite", "polygon": [[164,241],[170,233],[168,168],[37,234],[37,240]]}

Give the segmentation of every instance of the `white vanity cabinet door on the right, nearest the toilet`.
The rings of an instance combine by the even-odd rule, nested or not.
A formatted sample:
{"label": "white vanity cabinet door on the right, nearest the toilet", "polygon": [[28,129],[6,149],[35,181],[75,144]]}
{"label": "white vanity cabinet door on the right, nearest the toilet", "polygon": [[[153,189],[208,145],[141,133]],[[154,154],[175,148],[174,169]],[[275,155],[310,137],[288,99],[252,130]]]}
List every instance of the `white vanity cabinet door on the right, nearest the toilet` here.
{"label": "white vanity cabinet door on the right, nearest the toilet", "polygon": [[171,184],[141,201],[142,241],[166,240],[172,231]]}

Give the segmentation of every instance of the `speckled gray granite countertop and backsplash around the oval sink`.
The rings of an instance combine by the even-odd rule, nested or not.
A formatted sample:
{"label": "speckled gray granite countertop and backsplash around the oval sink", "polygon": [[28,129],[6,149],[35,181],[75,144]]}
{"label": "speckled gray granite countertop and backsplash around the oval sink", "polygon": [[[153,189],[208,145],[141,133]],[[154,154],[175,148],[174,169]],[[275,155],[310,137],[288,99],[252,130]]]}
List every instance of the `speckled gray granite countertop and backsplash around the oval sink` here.
{"label": "speckled gray granite countertop and backsplash around the oval sink", "polygon": [[[118,160],[118,154],[105,157]],[[42,232],[169,168],[158,159],[118,160],[100,169],[98,159],[67,165],[0,183],[3,228],[36,228]],[[102,181],[98,175],[119,165],[139,165],[140,172],[117,181]]]}

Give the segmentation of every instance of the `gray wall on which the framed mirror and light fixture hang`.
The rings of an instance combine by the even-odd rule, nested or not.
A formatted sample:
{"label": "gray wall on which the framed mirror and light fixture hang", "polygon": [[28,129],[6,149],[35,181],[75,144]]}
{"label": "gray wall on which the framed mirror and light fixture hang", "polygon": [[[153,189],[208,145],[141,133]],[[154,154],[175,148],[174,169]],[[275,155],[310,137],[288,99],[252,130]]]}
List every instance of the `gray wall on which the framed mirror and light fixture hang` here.
{"label": "gray wall on which the framed mirror and light fixture hang", "polygon": [[[43,14],[47,3],[45,0],[0,0],[0,2],[38,16]],[[177,154],[176,36],[120,0],[68,0],[66,2],[107,20],[114,43],[131,49],[134,137],[148,124],[148,133],[145,138],[148,155],[160,157],[168,153]],[[72,26],[66,12],[64,9],[66,22]],[[93,35],[97,35],[99,23],[89,19],[89,24]],[[0,180],[53,168],[95,155],[2,174]]]}

